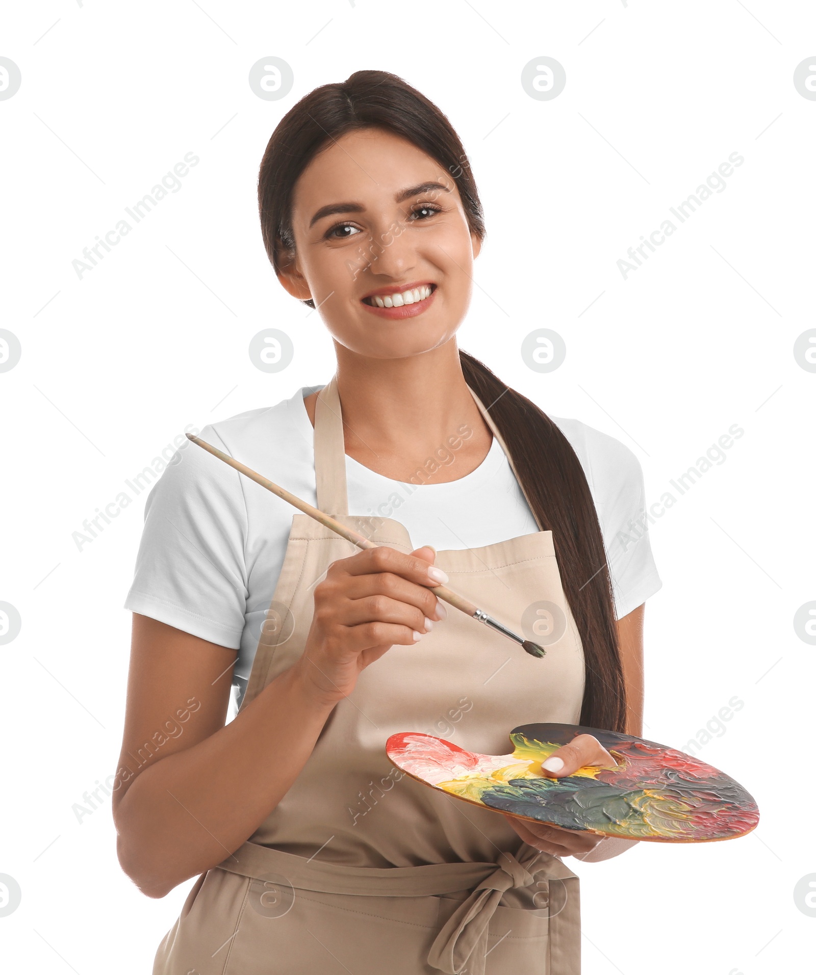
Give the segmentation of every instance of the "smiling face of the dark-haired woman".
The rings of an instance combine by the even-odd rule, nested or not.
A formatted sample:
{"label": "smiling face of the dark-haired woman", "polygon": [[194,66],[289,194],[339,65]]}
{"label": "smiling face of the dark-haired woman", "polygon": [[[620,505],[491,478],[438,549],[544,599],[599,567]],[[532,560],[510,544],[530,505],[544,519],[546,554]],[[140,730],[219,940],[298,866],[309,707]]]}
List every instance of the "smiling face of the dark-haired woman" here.
{"label": "smiling face of the dark-haired woman", "polygon": [[331,143],[295,186],[292,226],[281,281],[352,352],[415,356],[459,328],[479,240],[456,180],[413,143],[379,129]]}

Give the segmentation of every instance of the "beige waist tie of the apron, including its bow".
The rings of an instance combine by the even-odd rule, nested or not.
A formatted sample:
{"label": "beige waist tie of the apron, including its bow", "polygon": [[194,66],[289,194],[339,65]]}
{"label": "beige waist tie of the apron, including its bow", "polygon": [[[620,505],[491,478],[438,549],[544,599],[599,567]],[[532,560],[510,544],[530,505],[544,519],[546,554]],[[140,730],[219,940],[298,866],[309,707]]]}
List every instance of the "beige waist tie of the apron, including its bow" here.
{"label": "beige waist tie of the apron, including its bow", "polygon": [[575,878],[563,863],[523,844],[529,852],[516,859],[499,853],[495,863],[440,863],[423,867],[346,867],[305,857],[260,843],[245,842],[218,866],[249,878],[282,875],[294,888],[325,894],[363,897],[429,897],[470,890],[469,897],[442,926],[428,952],[428,964],[445,975],[468,965],[483,975],[487,933],[502,895],[511,887],[527,887],[542,874],[547,879]]}

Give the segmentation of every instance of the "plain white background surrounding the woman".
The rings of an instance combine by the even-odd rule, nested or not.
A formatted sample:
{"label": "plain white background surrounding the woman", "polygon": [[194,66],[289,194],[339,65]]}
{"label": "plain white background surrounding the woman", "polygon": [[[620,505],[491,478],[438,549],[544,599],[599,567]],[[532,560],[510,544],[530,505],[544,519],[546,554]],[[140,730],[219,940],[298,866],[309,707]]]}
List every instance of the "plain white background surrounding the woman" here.
{"label": "plain white background surrounding the woman", "polygon": [[[737,695],[744,708],[700,756],[749,789],[761,821],[743,839],[567,861],[584,971],[803,970],[816,648],[793,621],[816,600],[816,373],[793,349],[816,326],[816,101],[793,74],[814,49],[816,10],[769,0],[7,9],[0,55],[22,85],[0,101],[0,328],[22,357],[0,373],[0,600],[22,627],[0,646],[0,873],[22,900],[0,917],[6,970],[142,975],[184,901],[189,883],[155,901],[122,874],[109,800],[81,824],[72,810],[118,755],[146,492],[82,551],[72,532],[185,425],[331,376],[318,314],[267,262],[256,180],[295,101],[363,67],[418,87],[469,151],[488,237],[463,348],[632,448],[650,501],[729,426],[745,430],[650,528],[664,587],[646,609],[644,733],[682,748]],[[567,76],[549,101],[520,84],[544,55]],[[247,80],[268,56],[294,71],[278,101]],[[80,280],[71,261],[186,152],[200,163],[181,190]],[[733,152],[745,162],[725,190],[625,280],[616,261]],[[247,352],[269,327],[295,345],[276,374]],[[519,351],[542,327],[567,346],[549,374]]]}

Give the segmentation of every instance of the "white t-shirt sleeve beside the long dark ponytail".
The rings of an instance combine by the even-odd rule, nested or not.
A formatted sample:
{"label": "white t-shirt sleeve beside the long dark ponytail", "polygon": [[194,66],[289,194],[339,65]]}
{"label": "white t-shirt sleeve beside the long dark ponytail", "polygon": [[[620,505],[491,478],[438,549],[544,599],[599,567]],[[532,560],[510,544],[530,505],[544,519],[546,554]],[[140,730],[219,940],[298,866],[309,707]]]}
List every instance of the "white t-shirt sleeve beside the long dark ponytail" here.
{"label": "white t-shirt sleeve beside the long dark ponytail", "polygon": [[618,619],[646,602],[663,583],[649,542],[643,470],[632,450],[586,427],[586,446]]}

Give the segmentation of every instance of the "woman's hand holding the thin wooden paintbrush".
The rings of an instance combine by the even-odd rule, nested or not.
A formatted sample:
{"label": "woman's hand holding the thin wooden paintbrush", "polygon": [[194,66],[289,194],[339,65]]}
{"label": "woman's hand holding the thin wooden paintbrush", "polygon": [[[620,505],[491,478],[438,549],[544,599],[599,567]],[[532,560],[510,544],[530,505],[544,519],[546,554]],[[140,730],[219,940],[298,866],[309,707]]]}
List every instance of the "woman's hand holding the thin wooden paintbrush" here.
{"label": "woman's hand holding the thin wooden paintbrush", "polygon": [[447,616],[430,591],[448,581],[433,566],[435,556],[430,546],[404,555],[383,545],[329,566],[314,588],[306,647],[293,668],[321,702],[347,697],[360,672],[389,647],[419,643]]}

